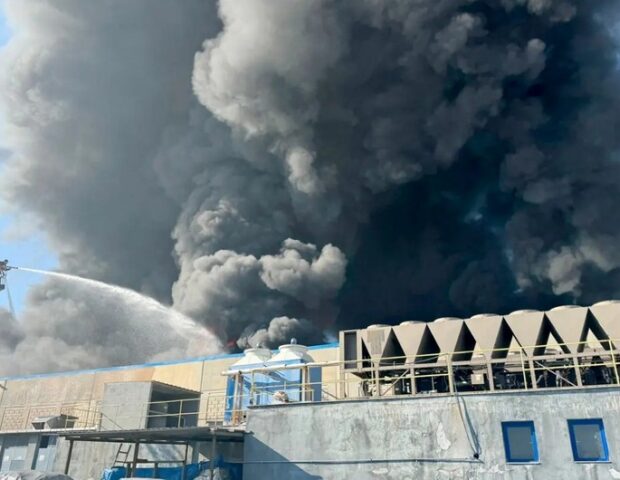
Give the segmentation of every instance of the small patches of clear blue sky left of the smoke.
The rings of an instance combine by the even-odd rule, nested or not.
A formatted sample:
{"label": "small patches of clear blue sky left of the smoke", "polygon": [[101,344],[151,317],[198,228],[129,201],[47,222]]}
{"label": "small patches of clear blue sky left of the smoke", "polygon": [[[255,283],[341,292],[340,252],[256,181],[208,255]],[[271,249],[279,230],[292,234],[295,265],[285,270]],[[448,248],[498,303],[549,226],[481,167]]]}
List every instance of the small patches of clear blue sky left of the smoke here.
{"label": "small patches of clear blue sky left of the smoke", "polygon": [[[6,24],[3,14],[3,4],[0,1],[0,48],[10,39],[11,32]],[[0,146],[2,141],[2,128],[0,122]],[[0,147],[1,148],[1,147]],[[0,150],[0,169],[2,162],[10,155],[6,150]],[[1,170],[0,170],[1,171]],[[4,209],[0,210],[0,257],[8,259],[12,265],[32,267],[38,269],[51,269],[56,265],[56,259],[45,243],[43,235],[35,230],[24,231],[18,219]],[[9,274],[8,285],[13,299],[16,313],[22,310],[28,289],[41,281],[40,275],[27,272],[13,272]],[[0,308],[9,307],[9,299],[6,292],[0,293]]]}

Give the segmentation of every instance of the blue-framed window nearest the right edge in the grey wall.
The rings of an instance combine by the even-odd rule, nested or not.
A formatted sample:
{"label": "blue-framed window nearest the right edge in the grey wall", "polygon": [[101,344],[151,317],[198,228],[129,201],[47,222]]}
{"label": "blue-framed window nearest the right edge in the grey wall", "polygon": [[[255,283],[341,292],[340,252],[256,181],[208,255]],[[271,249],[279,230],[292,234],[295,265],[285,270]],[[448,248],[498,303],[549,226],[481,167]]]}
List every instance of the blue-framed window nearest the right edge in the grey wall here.
{"label": "blue-framed window nearest the right edge in the grey wall", "polygon": [[568,420],[568,433],[576,462],[609,461],[609,448],[602,419]]}

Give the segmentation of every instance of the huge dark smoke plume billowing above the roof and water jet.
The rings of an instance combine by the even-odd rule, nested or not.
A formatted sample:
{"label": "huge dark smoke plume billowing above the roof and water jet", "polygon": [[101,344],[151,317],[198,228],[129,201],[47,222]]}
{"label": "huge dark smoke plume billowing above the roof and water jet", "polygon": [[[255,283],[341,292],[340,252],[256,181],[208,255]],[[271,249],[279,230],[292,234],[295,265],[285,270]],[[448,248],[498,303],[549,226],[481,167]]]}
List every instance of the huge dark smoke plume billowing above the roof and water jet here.
{"label": "huge dark smoke plume billowing above the roof and water jet", "polygon": [[241,346],[620,290],[616,0],[36,3],[3,192],[64,269]]}

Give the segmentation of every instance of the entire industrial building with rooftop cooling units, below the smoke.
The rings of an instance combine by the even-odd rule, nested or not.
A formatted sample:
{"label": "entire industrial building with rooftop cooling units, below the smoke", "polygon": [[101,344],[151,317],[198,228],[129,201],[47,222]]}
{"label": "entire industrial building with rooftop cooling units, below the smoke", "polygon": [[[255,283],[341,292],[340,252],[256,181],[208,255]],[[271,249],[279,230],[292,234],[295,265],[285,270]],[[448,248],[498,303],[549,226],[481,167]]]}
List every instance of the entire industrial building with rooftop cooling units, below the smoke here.
{"label": "entire industrial building with rooftop cooling units, below the smoke", "polygon": [[[78,480],[620,478],[620,302],[0,379],[0,470]],[[226,476],[227,475],[227,476]]]}

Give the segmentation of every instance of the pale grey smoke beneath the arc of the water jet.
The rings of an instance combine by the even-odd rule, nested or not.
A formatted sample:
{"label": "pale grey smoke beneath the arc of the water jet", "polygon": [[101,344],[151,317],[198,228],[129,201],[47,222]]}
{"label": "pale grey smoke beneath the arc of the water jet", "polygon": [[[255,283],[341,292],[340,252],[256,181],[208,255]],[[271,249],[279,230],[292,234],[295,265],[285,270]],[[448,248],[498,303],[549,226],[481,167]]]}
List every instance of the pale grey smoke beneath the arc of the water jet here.
{"label": "pale grey smoke beneath the arc of the water jet", "polygon": [[118,295],[73,282],[37,287],[29,301],[19,322],[0,310],[0,375],[127,365],[222,349],[206,330],[175,326],[175,315],[164,309],[136,308]]}

